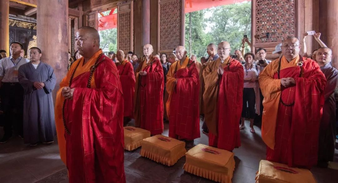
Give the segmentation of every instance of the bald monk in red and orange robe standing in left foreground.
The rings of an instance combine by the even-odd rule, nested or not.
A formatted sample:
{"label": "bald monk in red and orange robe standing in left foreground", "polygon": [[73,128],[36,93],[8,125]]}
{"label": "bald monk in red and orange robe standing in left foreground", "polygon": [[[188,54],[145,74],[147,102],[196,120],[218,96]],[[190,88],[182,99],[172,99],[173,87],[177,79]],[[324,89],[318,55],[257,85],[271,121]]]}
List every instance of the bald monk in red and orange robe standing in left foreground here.
{"label": "bald monk in red and orange robe standing in left foreground", "polygon": [[123,94],[118,70],[92,27],[75,35],[83,56],[70,67],[56,93],[55,121],[69,182],[124,183]]}

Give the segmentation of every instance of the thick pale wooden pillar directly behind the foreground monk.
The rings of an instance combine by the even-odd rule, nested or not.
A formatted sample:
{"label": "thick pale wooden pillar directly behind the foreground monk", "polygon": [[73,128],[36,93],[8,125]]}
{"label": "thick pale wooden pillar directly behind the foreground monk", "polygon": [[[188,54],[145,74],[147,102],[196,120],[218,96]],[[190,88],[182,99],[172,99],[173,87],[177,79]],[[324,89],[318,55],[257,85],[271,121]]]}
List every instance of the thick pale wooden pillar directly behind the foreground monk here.
{"label": "thick pale wooden pillar directly behind the foreground monk", "polygon": [[52,66],[56,75],[55,100],[68,69],[68,0],[38,0],[37,4],[37,45],[42,61]]}

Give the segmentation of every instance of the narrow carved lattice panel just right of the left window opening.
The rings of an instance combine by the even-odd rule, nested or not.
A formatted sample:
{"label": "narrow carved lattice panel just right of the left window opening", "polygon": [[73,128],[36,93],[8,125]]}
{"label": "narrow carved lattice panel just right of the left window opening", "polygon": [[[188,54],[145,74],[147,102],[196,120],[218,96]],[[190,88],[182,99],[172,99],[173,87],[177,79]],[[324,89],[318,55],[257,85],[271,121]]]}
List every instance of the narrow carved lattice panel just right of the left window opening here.
{"label": "narrow carved lattice panel just right of the left window opening", "polygon": [[117,50],[133,52],[133,1],[117,5]]}

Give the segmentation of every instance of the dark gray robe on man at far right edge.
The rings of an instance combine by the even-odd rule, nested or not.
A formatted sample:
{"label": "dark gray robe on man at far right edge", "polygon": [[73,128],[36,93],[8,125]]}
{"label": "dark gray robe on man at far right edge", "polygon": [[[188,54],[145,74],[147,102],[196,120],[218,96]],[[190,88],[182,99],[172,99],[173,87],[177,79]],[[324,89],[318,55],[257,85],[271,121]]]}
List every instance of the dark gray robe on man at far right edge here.
{"label": "dark gray robe on man at far right edge", "polygon": [[320,67],[327,80],[324,90],[323,116],[319,129],[318,162],[333,161],[336,142],[336,100],[335,89],[338,87],[338,71],[330,63]]}

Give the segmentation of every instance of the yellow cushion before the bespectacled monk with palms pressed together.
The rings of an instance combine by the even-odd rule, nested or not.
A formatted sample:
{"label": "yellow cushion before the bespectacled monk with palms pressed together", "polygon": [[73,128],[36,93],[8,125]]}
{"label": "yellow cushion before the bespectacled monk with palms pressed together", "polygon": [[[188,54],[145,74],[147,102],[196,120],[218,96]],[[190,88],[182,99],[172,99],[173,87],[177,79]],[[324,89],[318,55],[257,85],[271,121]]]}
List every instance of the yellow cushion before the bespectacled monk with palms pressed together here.
{"label": "yellow cushion before the bespectacled monk with palms pressed together", "polygon": [[184,170],[216,182],[231,183],[235,170],[234,153],[198,144],[186,153]]}

